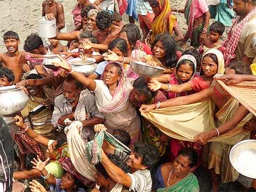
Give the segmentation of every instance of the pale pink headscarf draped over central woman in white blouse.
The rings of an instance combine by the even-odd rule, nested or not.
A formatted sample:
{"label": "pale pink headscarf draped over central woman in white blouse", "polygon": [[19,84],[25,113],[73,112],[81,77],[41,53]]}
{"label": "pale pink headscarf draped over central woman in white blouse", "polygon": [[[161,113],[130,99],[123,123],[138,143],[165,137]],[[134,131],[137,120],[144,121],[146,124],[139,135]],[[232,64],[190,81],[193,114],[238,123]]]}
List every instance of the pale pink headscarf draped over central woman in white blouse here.
{"label": "pale pink headscarf draped over central woman in white blouse", "polygon": [[124,107],[126,105],[126,102],[129,99],[129,93],[127,91],[127,82],[126,82],[126,73],[125,73],[125,69],[123,69],[123,66],[121,63],[119,62],[108,62],[108,64],[106,64],[104,71],[101,75],[101,80],[103,80],[103,76],[104,76],[104,72],[106,70],[106,67],[109,64],[117,64],[119,65],[119,67],[122,70],[122,74],[120,77],[120,81],[118,82],[117,87],[115,88],[115,93],[112,97],[112,102],[106,106],[100,106],[98,103],[98,110],[100,110],[101,112],[115,112],[115,111],[119,111],[122,107]]}

